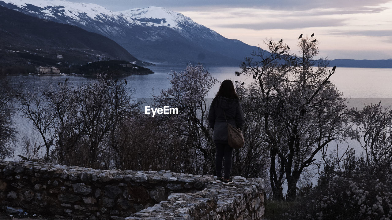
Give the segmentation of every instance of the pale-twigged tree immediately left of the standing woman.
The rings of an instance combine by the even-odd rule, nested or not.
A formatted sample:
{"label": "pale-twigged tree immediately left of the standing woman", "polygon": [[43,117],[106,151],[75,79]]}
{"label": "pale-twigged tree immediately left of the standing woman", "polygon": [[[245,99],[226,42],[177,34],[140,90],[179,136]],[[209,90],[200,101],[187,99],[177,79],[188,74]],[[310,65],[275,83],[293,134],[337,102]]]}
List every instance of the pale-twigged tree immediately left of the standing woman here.
{"label": "pale-twigged tree immediately left of the standing woman", "polygon": [[[217,83],[203,65],[189,64],[180,72],[172,71],[169,78],[171,87],[162,90],[154,100],[158,106],[178,108],[178,115],[170,115],[178,123],[176,133],[189,157],[200,160],[203,167],[196,173],[211,173],[214,158],[212,132],[207,123],[205,99],[209,90]],[[201,158],[200,158],[200,156]]]}

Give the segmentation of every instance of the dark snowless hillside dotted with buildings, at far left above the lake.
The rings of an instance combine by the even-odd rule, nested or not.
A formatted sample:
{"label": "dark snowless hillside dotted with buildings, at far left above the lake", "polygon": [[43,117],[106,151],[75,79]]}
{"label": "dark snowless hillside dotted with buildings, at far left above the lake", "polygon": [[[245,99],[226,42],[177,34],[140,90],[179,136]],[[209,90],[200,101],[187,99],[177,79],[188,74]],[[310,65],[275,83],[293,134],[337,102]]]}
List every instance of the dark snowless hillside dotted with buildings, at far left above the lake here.
{"label": "dark snowless hillside dotted with buildings, at far left above the lake", "polygon": [[143,65],[142,61],[105,36],[2,6],[0,36],[2,69],[15,65],[68,66],[109,59],[136,61]]}

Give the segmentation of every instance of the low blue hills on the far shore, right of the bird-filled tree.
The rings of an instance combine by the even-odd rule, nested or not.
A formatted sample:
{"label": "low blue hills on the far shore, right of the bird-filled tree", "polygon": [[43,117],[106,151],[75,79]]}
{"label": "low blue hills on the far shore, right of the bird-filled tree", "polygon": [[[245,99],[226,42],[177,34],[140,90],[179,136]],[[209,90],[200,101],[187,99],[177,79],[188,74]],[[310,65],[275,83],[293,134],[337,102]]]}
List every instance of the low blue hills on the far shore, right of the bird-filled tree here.
{"label": "low blue hills on the far shore, right of the bird-filled tree", "polygon": [[392,59],[389,60],[335,59],[330,61],[330,66],[359,67],[359,68],[392,68]]}

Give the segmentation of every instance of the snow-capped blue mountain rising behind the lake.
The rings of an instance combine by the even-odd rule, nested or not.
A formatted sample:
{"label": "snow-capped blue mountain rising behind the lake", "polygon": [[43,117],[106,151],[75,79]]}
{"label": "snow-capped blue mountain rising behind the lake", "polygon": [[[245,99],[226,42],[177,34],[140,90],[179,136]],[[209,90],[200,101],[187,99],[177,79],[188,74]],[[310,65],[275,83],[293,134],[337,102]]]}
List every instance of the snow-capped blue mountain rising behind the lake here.
{"label": "snow-capped blue mountain rising behind the lake", "polygon": [[157,63],[238,65],[244,56],[257,50],[161,7],[113,12],[96,4],[62,0],[0,0],[0,5],[102,34],[136,58]]}

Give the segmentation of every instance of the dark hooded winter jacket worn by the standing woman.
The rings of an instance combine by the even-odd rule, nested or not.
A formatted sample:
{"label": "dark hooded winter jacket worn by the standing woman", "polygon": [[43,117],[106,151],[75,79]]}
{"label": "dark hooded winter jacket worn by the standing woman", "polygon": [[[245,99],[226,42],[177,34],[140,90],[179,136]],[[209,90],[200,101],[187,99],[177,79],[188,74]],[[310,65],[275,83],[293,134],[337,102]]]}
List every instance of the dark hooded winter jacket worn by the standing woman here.
{"label": "dark hooded winter jacket worn by the standing woman", "polygon": [[240,101],[222,96],[215,97],[211,103],[208,121],[214,130],[212,139],[218,143],[227,143],[227,123],[241,130],[244,125],[244,114]]}

